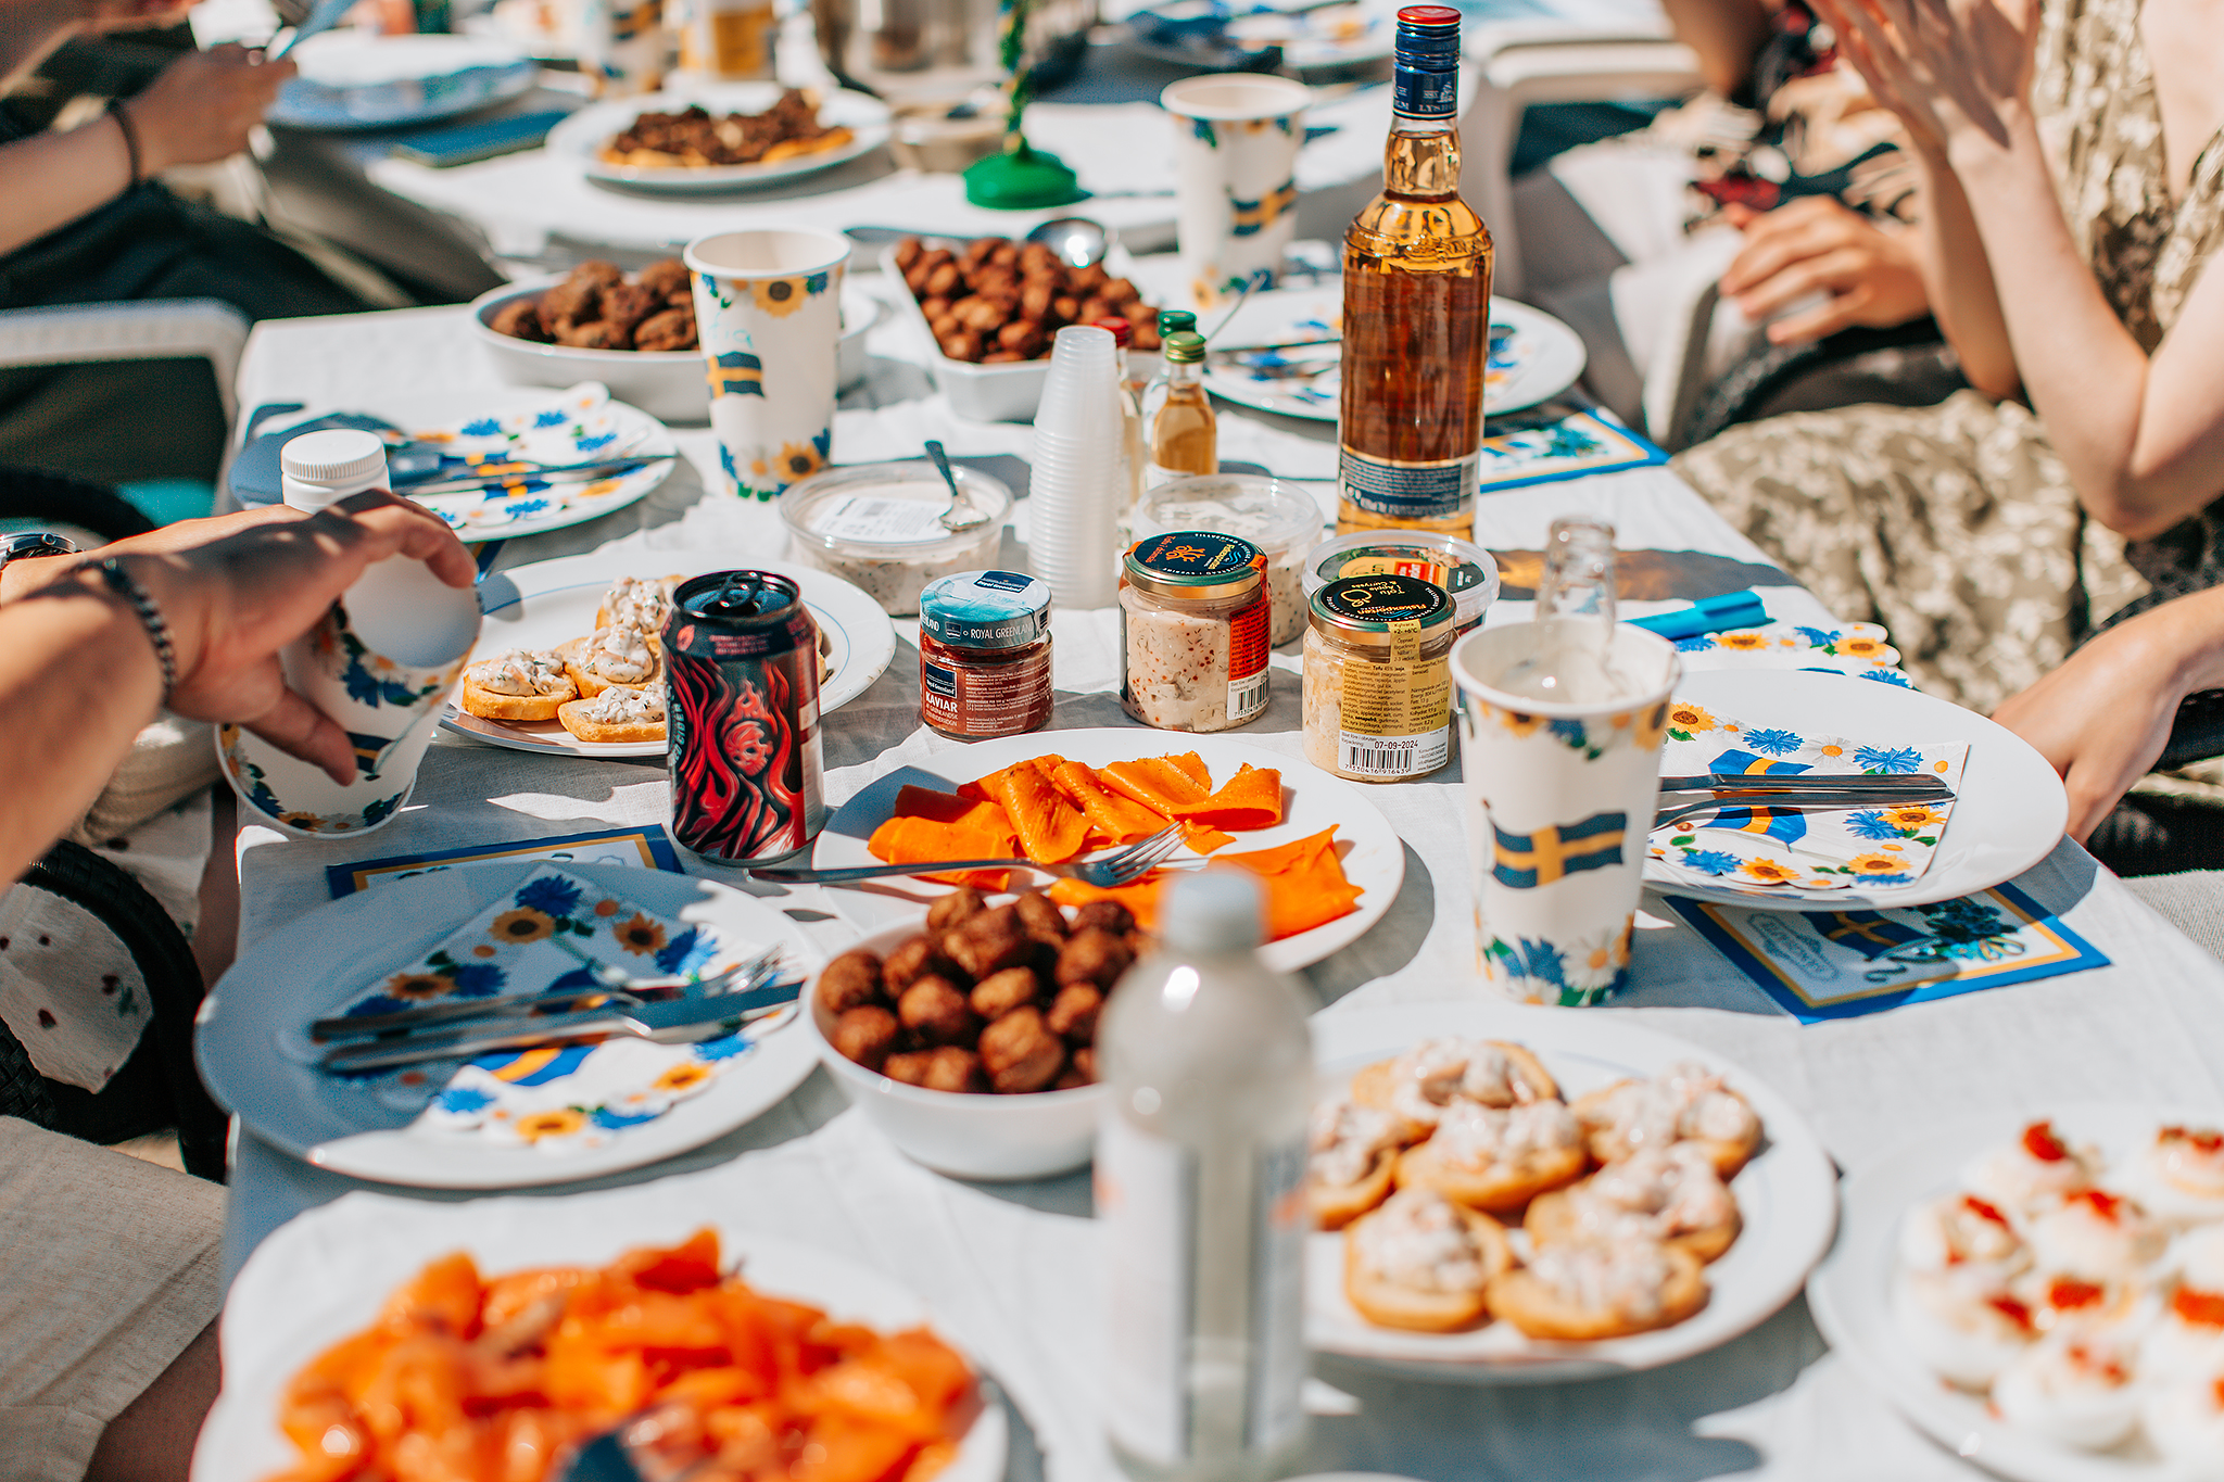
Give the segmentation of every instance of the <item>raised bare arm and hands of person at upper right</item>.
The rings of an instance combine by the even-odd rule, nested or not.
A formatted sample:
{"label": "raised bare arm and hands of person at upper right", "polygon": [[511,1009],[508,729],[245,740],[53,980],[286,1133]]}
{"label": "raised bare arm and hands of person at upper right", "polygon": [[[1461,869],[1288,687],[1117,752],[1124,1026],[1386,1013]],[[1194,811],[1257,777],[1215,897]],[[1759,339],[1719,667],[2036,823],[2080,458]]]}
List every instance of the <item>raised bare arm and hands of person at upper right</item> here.
{"label": "raised bare arm and hands of person at upper right", "polygon": [[[1970,380],[1997,391],[1990,309],[2079,502],[2122,535],[2160,535],[2224,493],[2224,273],[2195,282],[2153,356],[2115,318],[2062,218],[2031,116],[2037,0],[1817,4],[1846,27],[1848,58],[1928,162],[1933,302],[1955,349],[1966,340],[1977,356]],[[2224,33],[2204,42],[2224,69]],[[1955,200],[1984,244],[1984,280],[1959,247]]]}

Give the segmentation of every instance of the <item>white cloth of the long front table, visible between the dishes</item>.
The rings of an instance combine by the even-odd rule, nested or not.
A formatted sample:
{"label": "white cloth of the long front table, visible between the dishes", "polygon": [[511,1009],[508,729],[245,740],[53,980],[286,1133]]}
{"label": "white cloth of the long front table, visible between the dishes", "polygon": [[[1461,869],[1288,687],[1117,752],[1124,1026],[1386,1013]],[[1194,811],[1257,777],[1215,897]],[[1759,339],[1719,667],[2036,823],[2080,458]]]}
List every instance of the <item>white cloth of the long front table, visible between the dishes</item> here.
{"label": "white cloth of the long front table, visible between the dishes", "polygon": [[[874,287],[876,280],[865,280]],[[887,293],[887,284],[876,291]],[[901,291],[901,289],[898,289]],[[834,451],[843,462],[914,455],[941,438],[959,458],[1025,458],[1023,424],[979,424],[950,413],[923,375],[916,327],[887,318],[872,340],[867,384],[843,400]],[[369,409],[407,387],[411,398],[498,384],[460,309],[267,322],[240,367],[240,404],[305,402]],[[770,504],[716,487],[705,427],[674,429],[683,460],[647,500],[592,524],[509,542],[496,569],[587,551],[781,549]],[[1221,455],[1330,489],[1332,429],[1221,409]],[[1323,500],[1326,507],[1326,500]],[[1025,560],[1027,500],[1019,500],[1001,564]],[[1604,513],[1624,549],[1766,558],[1664,467],[1481,500],[1477,540],[1537,549],[1552,518]],[[1764,587],[1777,620],[1828,622],[1788,584]],[[1661,604],[1666,607],[1666,602]],[[1519,620],[1501,600],[1490,620]],[[896,660],[825,727],[830,804],[874,778],[961,742],[919,722],[916,620],[896,620]],[[1119,709],[1119,624],[1112,609],[1054,615],[1056,711],[1063,727],[1132,724]],[[1301,753],[1297,644],[1274,655],[1268,713],[1237,735]],[[1150,731],[1136,729],[1139,742]],[[1319,1013],[1383,1004],[1475,1000],[1468,844],[1459,773],[1368,791],[1406,842],[1406,878],[1363,938],[1305,969]],[[667,822],[669,789],[656,764],[527,755],[440,735],[403,813],[374,840],[285,840],[238,833],[240,949],[329,900],[325,869],[365,858],[598,827]],[[698,860],[689,871],[785,909],[825,951],[856,931],[821,887],[767,887]],[[2142,1100],[2224,1107],[2224,967],[2144,907],[2122,880],[2064,840],[2017,880],[2108,958],[2108,967],[2015,987],[1906,1004],[1875,1015],[1801,1024],[1739,975],[1681,918],[1648,898],[1632,955],[1632,989],[1599,1013],[1697,1042],[1766,1080],[1853,1171],[1942,1118],[2064,1102]],[[251,993],[227,982],[227,993]],[[238,1126],[238,1124],[236,1124]],[[294,1220],[316,1222],[334,1200],[456,1202],[474,1195],[374,1189],[314,1169],[236,1133],[227,1275]],[[480,1195],[483,1198],[483,1195]],[[643,1209],[685,1204],[741,1229],[803,1240],[874,1266],[927,1295],[936,1318],[996,1375],[1019,1420],[1014,1478],[1112,1478],[1101,1420],[1101,1264],[1085,1173],[1021,1184],[972,1184],[930,1173],[852,1113],[825,1071],[738,1131],[634,1173],[589,1184],[505,1193],[547,1200],[556,1218],[623,1226]],[[451,1211],[471,1218],[469,1204]],[[458,1224],[460,1226],[460,1224]],[[294,1242],[287,1266],[302,1266]],[[285,1242],[278,1242],[285,1246]],[[276,1249],[276,1246],[274,1246]],[[1383,1471],[1450,1482],[1475,1478],[1681,1480],[1715,1475],[1810,1482],[1897,1478],[1968,1480],[1977,1473],[1935,1446],[1833,1355],[1795,1298],[1728,1344],[1644,1371],[1563,1384],[1426,1382],[1410,1373],[1317,1355],[1308,1389],[1310,1462],[1319,1471]]]}

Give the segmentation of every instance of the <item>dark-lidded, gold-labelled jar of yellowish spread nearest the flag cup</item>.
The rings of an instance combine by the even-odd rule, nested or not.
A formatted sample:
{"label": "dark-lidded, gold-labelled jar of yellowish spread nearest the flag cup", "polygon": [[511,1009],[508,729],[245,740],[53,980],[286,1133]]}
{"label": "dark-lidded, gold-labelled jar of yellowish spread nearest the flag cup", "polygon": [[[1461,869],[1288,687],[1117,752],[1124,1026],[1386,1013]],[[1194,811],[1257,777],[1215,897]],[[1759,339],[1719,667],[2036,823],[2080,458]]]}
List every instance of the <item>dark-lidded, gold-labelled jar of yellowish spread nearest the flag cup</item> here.
{"label": "dark-lidded, gold-labelled jar of yellowish spread nearest the flag cup", "polygon": [[1314,591],[1305,760],[1352,782],[1426,778],[1452,760],[1452,593],[1414,575]]}

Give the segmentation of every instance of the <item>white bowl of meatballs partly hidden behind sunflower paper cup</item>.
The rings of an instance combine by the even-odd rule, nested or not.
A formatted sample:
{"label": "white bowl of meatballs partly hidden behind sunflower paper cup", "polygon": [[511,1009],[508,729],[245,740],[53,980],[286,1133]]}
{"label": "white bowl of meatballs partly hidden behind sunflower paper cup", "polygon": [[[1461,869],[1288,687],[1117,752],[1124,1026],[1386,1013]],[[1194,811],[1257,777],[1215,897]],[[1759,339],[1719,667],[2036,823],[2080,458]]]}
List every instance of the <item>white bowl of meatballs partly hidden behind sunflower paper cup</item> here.
{"label": "white bowl of meatballs partly hidden behind sunflower paper cup", "polygon": [[[841,316],[836,375],[850,387],[865,378],[865,331],[881,318],[881,302],[845,287]],[[503,284],[471,300],[471,333],[507,380],[598,380],[614,400],[661,422],[709,420],[694,291],[678,258],[636,273],[592,260],[560,278]]]}

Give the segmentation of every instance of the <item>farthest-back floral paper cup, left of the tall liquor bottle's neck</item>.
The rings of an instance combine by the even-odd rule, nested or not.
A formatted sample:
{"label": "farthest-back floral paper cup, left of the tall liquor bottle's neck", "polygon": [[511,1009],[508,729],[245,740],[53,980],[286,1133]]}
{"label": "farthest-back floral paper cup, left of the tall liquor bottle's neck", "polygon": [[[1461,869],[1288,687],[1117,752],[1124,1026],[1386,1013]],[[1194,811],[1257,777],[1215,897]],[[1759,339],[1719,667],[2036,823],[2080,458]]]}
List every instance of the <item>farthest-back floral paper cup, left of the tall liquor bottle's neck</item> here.
{"label": "farthest-back floral paper cup, left of the tall liquor bottle's neck", "polygon": [[1208,309],[1259,273],[1270,289],[1297,231],[1297,151],[1312,89],[1290,78],[1183,78],[1159,93],[1174,116],[1174,207],[1190,298]]}

